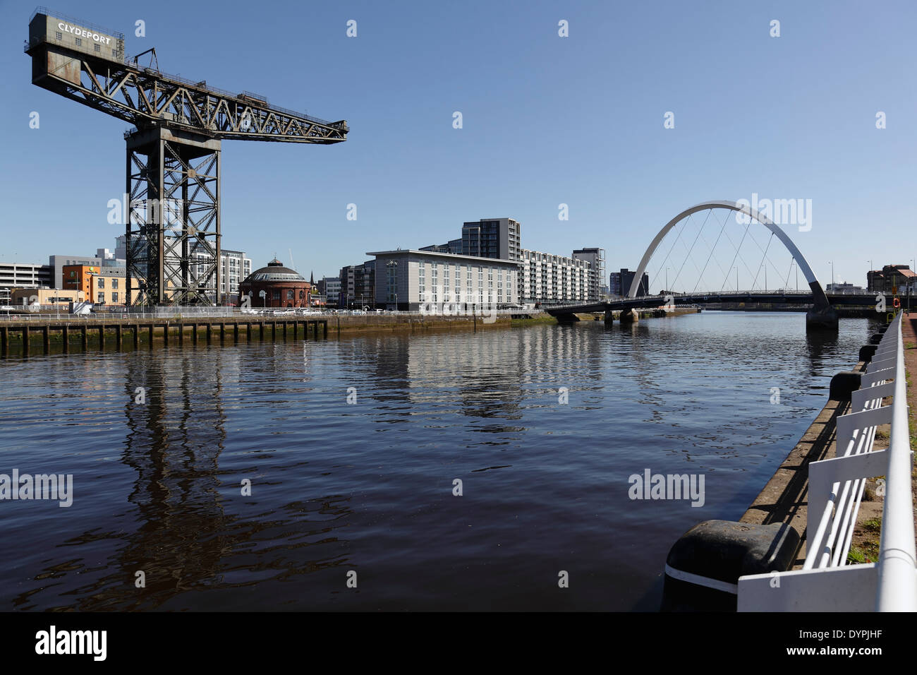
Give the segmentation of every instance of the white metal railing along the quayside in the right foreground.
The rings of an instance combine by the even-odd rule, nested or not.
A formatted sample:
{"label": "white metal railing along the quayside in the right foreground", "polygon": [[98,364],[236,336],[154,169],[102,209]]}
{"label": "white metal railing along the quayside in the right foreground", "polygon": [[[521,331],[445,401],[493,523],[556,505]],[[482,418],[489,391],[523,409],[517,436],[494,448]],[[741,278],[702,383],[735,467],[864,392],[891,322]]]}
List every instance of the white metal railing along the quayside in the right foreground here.
{"label": "white metal railing along the quayside in the right foreground", "polygon": [[[807,555],[802,569],[739,578],[739,611],[917,611],[904,345],[899,313],[837,417],[834,458],[809,464]],[[883,405],[886,397],[889,405]],[[876,450],[879,425],[889,448]],[[878,561],[847,565],[856,514],[870,476],[885,476]]]}

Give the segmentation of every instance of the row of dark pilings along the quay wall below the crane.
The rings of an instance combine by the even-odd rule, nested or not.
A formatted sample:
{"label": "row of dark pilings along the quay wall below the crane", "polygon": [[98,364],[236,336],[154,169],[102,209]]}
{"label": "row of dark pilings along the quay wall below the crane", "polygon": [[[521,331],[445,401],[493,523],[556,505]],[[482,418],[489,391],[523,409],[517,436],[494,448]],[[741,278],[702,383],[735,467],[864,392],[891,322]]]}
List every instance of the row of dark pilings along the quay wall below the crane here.
{"label": "row of dark pilings along the quay wall below the crane", "polygon": [[[202,325],[203,324],[203,325]],[[249,317],[245,319],[234,319],[232,317],[214,317],[212,319],[195,319],[192,322],[185,322],[183,319],[136,319],[127,317],[123,320],[105,319],[63,319],[50,318],[43,320],[41,318],[30,319],[29,321],[17,321],[16,319],[0,320],[0,355],[10,355],[10,344],[14,336],[21,338],[21,354],[27,356],[30,354],[31,339],[37,335],[41,336],[41,344],[44,354],[50,354],[51,351],[51,333],[61,334],[61,346],[63,354],[70,354],[70,338],[73,332],[80,333],[80,343],[83,346],[83,352],[89,349],[90,333],[98,332],[98,348],[105,350],[105,333],[114,333],[115,347],[121,351],[124,347],[125,332],[129,332],[133,338],[133,347],[139,348],[141,335],[147,333],[147,342],[152,348],[154,340],[161,338],[163,346],[169,347],[170,341],[178,346],[184,346],[185,332],[191,332],[193,345],[198,343],[201,329],[206,331],[207,344],[215,342],[218,337],[220,344],[226,343],[226,332],[233,332],[233,343],[239,342],[240,327],[245,327],[245,339],[252,341],[253,333],[258,333],[260,342],[264,342],[268,329],[271,329],[271,341],[278,339],[280,331],[281,339],[286,342],[287,332],[293,329],[293,340],[299,339],[300,327],[302,326],[302,339],[307,340],[312,337],[318,340],[319,336],[327,338],[328,321],[326,319],[292,319],[286,321],[267,321],[258,319],[252,321]],[[218,331],[219,335],[215,336],[214,332]],[[159,333],[159,334],[157,334]]]}

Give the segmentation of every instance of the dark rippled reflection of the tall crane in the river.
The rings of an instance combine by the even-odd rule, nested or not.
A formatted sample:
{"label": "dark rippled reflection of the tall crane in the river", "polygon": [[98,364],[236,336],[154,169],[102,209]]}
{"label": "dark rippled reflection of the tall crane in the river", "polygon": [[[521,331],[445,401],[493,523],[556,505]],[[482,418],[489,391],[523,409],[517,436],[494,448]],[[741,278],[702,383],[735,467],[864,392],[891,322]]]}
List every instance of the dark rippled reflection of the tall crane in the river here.
{"label": "dark rippled reflection of the tall crane in the river", "polygon": [[[66,573],[68,579],[92,580],[79,581],[65,593],[31,589],[17,596],[14,606],[47,604],[41,595],[49,591],[78,598],[61,602],[60,609],[170,609],[172,601],[183,608],[188,601],[178,600],[182,593],[254,587],[264,579],[347,562],[347,541],[336,534],[352,515],[349,496],[284,501],[290,496],[284,492],[281,500],[243,497],[241,477],[286,468],[267,465],[275,459],[271,451],[253,448],[243,468],[221,468],[226,409],[241,402],[237,383],[245,377],[245,361],[231,349],[208,350],[206,358],[195,354],[200,355],[194,349],[172,349],[127,355],[121,373],[129,401],[121,461],[136,478],[125,486],[123,498],[116,498],[113,511],[124,509],[123,500],[136,507],[134,530],[104,532],[87,523],[83,534],[60,545],[71,551],[69,559],[43,568],[35,579]],[[226,381],[233,385],[226,387]],[[145,403],[136,402],[137,388],[145,389]],[[265,491],[263,484],[259,488]],[[114,557],[73,559],[73,550],[92,549],[105,539],[117,540]],[[138,570],[145,575],[145,588],[135,583]],[[239,599],[237,594],[229,604],[238,609]]]}

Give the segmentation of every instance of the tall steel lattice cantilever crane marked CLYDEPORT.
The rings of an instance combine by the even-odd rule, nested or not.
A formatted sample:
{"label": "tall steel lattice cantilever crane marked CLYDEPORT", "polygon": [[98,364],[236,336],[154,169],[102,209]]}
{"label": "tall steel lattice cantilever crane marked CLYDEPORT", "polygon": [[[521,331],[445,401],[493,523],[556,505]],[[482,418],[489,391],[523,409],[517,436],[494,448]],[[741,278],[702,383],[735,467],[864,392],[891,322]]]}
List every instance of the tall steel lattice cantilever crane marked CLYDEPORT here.
{"label": "tall steel lattice cantilever crane marked CLYDEPORT", "polygon": [[25,51],[32,84],[135,126],[125,133],[127,305],[220,304],[222,141],[347,141],[345,120],[161,73],[154,50],[126,58],[123,33],[45,7],[29,19]]}

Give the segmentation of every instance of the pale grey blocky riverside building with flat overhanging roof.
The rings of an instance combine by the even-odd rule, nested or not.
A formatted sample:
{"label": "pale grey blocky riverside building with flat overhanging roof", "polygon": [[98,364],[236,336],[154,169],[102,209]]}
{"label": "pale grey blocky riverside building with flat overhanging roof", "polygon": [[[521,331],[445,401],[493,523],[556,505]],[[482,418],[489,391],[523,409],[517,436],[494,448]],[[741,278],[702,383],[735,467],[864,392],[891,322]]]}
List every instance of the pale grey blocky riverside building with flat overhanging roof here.
{"label": "pale grey blocky riverside building with flat overhanging roof", "polygon": [[376,259],[379,308],[415,311],[432,303],[472,311],[485,304],[501,309],[519,302],[518,261],[414,249],[367,255]]}

